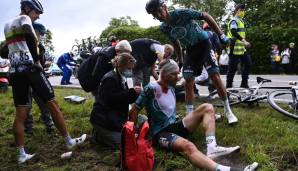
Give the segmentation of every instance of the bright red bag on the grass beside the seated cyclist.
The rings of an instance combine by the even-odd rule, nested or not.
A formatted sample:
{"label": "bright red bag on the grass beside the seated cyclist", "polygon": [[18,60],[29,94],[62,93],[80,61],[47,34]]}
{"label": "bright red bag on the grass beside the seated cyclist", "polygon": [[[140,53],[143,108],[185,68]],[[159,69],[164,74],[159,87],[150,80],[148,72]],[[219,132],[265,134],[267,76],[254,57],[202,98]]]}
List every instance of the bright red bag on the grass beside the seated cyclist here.
{"label": "bright red bag on the grass beside the seated cyclist", "polygon": [[121,133],[121,162],[122,170],[151,171],[154,164],[152,143],[147,139],[149,124],[144,122],[136,134],[134,123],[127,121]]}

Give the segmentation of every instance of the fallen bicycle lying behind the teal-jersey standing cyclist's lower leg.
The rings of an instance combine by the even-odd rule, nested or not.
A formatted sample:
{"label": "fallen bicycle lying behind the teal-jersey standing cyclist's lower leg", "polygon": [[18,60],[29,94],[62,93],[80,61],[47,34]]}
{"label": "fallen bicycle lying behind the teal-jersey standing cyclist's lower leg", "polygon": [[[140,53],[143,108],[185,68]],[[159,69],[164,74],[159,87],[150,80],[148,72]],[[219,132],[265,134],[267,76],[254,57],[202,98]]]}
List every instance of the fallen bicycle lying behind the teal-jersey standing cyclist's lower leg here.
{"label": "fallen bicycle lying behind the teal-jersey standing cyclist's lower leg", "polygon": [[[265,88],[262,85],[268,82],[272,82],[272,81],[269,79],[257,77],[258,85],[253,86],[251,88],[227,88],[227,95],[228,95],[230,106],[240,104],[240,103],[253,105],[258,103],[261,100],[267,99],[267,96],[269,93],[266,92],[265,94],[263,94],[259,90],[262,88]],[[266,88],[269,88],[269,87],[266,87]],[[275,88],[275,87],[270,87],[270,88]],[[223,107],[222,100],[219,97],[217,90],[209,94],[207,98],[207,102],[217,107]]]}

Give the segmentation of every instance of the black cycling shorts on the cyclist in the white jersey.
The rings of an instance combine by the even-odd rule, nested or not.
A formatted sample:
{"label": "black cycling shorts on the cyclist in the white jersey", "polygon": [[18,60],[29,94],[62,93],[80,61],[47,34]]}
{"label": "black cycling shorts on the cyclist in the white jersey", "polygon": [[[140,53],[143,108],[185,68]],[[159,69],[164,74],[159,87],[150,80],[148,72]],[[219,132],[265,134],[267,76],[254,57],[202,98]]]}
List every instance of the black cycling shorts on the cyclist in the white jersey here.
{"label": "black cycling shorts on the cyclist in the white jersey", "polygon": [[15,106],[31,105],[31,88],[46,103],[55,98],[53,87],[42,72],[23,72],[10,75]]}

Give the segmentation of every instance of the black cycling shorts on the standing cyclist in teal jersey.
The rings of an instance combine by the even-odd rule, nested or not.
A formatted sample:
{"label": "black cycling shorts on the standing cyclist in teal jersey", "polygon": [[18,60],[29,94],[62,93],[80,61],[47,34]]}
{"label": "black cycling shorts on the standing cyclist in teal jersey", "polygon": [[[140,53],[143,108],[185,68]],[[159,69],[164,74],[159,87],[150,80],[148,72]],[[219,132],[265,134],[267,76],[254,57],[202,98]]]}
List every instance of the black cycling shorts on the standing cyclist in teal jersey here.
{"label": "black cycling shorts on the standing cyclist in teal jersey", "polygon": [[218,62],[209,39],[186,49],[183,63],[183,77],[191,78],[201,74],[205,66],[209,74],[219,73]]}

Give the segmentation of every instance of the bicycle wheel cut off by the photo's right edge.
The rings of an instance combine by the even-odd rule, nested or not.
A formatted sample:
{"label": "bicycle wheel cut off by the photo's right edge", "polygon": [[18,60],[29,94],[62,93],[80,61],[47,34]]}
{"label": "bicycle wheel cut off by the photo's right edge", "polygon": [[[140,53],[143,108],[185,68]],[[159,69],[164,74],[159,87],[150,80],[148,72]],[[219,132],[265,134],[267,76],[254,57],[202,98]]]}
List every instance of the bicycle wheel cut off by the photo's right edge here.
{"label": "bicycle wheel cut off by the photo's right edge", "polygon": [[285,116],[298,119],[298,104],[290,90],[273,91],[268,96],[268,102],[273,109]]}

